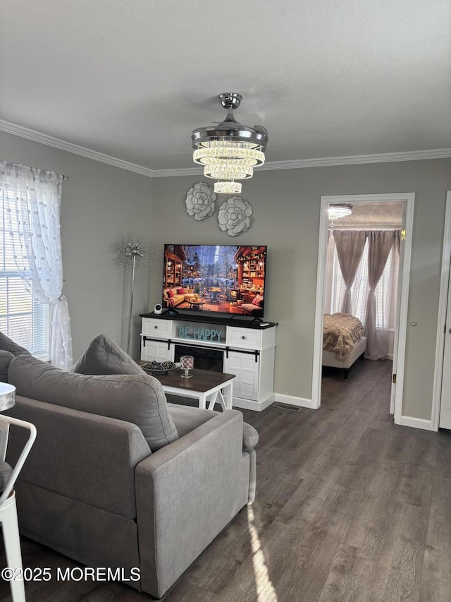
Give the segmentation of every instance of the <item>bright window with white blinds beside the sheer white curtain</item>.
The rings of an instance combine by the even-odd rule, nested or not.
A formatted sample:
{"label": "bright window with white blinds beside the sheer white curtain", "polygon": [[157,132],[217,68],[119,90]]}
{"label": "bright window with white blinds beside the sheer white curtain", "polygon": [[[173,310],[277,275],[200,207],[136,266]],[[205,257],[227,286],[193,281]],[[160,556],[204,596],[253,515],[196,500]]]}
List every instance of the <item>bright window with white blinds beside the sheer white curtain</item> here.
{"label": "bright window with white blinds beside the sheer white curtain", "polygon": [[32,284],[25,285],[20,277],[6,216],[7,202],[8,191],[0,188],[0,331],[32,355],[48,360],[49,305],[38,303],[33,296]]}

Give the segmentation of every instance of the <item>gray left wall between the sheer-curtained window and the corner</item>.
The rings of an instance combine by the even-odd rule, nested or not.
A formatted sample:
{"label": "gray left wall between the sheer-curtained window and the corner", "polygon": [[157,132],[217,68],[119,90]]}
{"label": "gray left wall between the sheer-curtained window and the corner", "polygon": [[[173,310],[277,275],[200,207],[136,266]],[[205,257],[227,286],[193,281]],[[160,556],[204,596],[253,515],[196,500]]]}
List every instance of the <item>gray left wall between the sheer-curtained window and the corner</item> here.
{"label": "gray left wall between the sheer-curtained window and the corner", "polygon": [[[0,132],[0,156],[66,174],[61,199],[64,291],[74,359],[100,333],[127,344],[130,271],[115,267],[110,244],[121,232],[149,235],[151,181],[145,176]],[[132,356],[140,356],[140,318],[148,311],[149,271],[137,274]]]}

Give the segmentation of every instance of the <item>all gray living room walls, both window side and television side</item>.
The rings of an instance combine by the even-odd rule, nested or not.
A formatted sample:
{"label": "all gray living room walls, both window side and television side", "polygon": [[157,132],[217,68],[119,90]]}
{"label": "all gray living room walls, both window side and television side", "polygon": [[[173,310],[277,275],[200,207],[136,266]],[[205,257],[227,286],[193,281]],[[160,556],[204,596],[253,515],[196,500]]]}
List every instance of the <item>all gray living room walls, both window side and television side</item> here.
{"label": "all gray living room walls, both window side and television side", "polygon": [[185,212],[186,192],[202,176],[151,181],[24,138],[0,136],[1,158],[69,176],[63,186],[61,238],[75,359],[100,332],[123,347],[126,344],[130,272],[114,267],[109,252],[121,231],[149,234],[156,248],[150,281],[148,272],[137,275],[135,358],[139,356],[138,314],[161,301],[163,243],[266,244],[266,318],[279,323],[275,390],[308,399],[321,195],[415,192],[409,324],[415,320],[418,325],[409,326],[407,332],[403,414],[431,418],[450,159],[257,172],[244,183],[242,193],[254,207],[252,227],[233,239],[218,229],[216,215],[196,222]]}

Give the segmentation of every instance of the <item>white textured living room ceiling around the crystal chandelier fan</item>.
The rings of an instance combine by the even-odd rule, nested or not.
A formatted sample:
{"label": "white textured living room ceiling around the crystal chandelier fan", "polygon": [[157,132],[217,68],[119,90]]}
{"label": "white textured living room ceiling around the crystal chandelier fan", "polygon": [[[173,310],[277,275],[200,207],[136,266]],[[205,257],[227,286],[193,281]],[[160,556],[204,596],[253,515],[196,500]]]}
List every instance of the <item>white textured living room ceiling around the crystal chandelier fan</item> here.
{"label": "white textured living room ceiling around the crystal chandelier fan", "polygon": [[451,147],[450,0],[4,0],[0,119],[193,167],[219,92],[268,162]]}

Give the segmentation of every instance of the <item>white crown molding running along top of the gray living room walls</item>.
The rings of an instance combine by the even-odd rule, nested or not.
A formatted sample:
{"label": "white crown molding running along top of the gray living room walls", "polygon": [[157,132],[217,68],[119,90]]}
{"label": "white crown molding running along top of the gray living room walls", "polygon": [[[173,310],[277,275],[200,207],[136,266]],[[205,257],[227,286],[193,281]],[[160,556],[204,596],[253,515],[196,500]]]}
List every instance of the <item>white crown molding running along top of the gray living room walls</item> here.
{"label": "white crown molding running along top of the gray living room walls", "polygon": [[[14,136],[27,138],[34,142],[47,144],[54,148],[72,152],[74,155],[81,155],[87,159],[93,159],[101,163],[120,167],[128,171],[134,171],[136,174],[147,176],[148,178],[171,178],[177,176],[198,176],[203,175],[202,167],[187,167],[182,169],[149,169],[135,163],[129,163],[116,157],[104,155],[102,152],[91,150],[77,144],[66,142],[48,136],[41,132],[24,128],[16,124],[11,124],[9,121],[0,119],[0,131],[11,133]],[[427,159],[449,159],[451,157],[451,148],[436,148],[431,150],[409,150],[405,152],[383,152],[376,155],[350,155],[347,157],[320,157],[318,159],[295,159],[290,161],[272,161],[266,162],[261,167],[257,167],[256,171],[273,171],[280,169],[302,169],[306,167],[333,167],[340,165],[359,165],[365,163],[390,163],[396,161],[424,161]]]}

